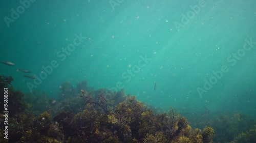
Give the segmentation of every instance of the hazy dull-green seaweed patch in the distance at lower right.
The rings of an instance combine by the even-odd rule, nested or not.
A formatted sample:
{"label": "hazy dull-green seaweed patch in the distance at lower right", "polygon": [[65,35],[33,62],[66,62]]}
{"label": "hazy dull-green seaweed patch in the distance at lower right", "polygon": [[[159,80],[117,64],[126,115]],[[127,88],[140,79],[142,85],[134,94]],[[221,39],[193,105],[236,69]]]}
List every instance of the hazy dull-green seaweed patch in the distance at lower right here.
{"label": "hazy dull-green seaweed patch in the distance at lower right", "polygon": [[[253,120],[253,118],[238,112],[234,114],[211,112],[210,114],[207,113],[197,116],[200,116],[201,118],[198,118],[197,120],[190,119],[190,121],[193,122],[193,127],[211,126],[216,132],[216,137],[214,138],[214,141],[216,142],[234,141],[234,138],[248,134],[249,131],[253,130],[253,126],[256,125],[256,121]],[[254,139],[256,139],[256,136]]]}

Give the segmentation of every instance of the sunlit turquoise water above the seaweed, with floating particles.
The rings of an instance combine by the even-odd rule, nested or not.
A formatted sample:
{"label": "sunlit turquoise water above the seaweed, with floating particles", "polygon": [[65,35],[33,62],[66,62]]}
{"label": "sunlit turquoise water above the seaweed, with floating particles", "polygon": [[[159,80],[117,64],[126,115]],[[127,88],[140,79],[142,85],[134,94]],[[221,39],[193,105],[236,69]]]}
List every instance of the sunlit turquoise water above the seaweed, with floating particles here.
{"label": "sunlit turquoise water above the seaweed, with floating particles", "polygon": [[87,80],[164,110],[255,114],[255,1],[26,2],[1,5],[0,61],[15,66],[0,74],[16,89]]}

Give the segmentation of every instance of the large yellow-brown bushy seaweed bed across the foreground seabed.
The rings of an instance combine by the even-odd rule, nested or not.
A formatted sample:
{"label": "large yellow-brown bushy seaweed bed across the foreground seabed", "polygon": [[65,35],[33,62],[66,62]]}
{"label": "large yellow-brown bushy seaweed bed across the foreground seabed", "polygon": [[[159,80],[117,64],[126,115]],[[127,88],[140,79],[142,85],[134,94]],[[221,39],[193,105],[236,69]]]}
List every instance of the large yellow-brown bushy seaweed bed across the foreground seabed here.
{"label": "large yellow-brown bushy seaweed bed across the foreground seabed", "polygon": [[[39,91],[30,94],[15,91],[11,77],[0,77],[1,89],[9,89],[11,112],[8,139],[0,130],[0,142],[206,143],[218,138],[219,133],[212,127],[223,122],[219,117],[212,121],[212,127],[193,129],[175,108],[156,113],[135,96],[125,95],[123,90],[95,90],[88,87],[87,81],[77,83],[76,87],[65,82],[57,97],[52,98]],[[2,129],[3,120],[1,117]],[[237,133],[230,141],[255,142],[255,131],[254,126],[254,129]]]}

